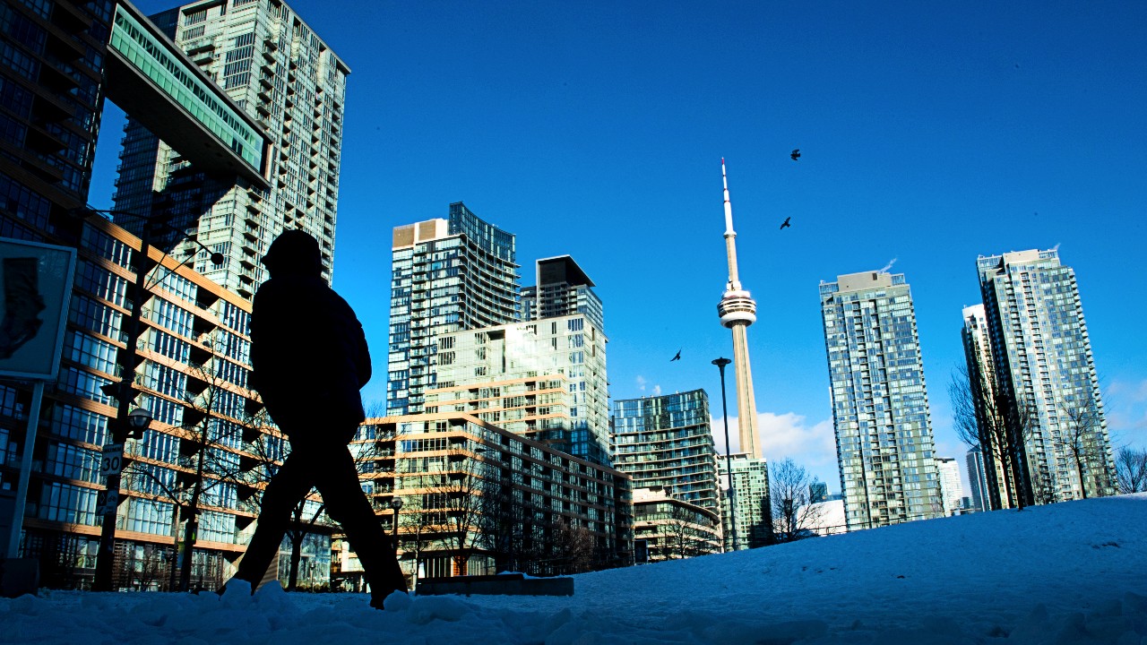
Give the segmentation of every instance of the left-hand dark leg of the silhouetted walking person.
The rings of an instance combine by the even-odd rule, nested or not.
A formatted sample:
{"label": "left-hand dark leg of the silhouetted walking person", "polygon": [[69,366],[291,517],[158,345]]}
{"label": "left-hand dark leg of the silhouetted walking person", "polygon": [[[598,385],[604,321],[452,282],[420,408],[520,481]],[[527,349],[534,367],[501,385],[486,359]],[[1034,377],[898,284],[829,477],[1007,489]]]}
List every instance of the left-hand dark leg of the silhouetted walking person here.
{"label": "left-hand dark leg of the silhouetted walking person", "polygon": [[235,573],[236,578],[251,583],[251,591],[255,591],[271,561],[274,560],[275,553],[279,552],[295,504],[314,487],[317,469],[313,453],[291,451],[279,473],[271,479],[271,483],[264,490],[255,535],[251,536],[247,553],[240,560],[239,570]]}

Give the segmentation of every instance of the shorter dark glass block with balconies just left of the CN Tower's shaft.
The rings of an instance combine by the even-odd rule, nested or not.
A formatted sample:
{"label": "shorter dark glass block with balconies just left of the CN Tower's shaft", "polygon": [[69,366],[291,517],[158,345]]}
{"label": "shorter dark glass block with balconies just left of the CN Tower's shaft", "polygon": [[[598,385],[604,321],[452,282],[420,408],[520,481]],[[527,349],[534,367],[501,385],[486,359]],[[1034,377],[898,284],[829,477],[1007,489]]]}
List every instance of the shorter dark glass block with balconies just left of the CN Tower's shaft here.
{"label": "shorter dark glass block with balconies just left of the CN Tower's shaft", "polygon": [[704,390],[614,402],[614,467],[633,488],[661,487],[677,499],[720,512],[717,452]]}

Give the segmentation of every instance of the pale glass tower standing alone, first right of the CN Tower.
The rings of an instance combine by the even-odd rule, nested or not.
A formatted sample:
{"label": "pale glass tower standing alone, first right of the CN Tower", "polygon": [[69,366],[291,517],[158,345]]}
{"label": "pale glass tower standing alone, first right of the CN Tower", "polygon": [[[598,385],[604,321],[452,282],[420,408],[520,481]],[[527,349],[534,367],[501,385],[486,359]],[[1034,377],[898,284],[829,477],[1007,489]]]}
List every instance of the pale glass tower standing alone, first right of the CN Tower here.
{"label": "pale glass tower standing alone, first right of the CN Tower", "polygon": [[877,271],[820,285],[849,530],[943,512],[912,294]]}

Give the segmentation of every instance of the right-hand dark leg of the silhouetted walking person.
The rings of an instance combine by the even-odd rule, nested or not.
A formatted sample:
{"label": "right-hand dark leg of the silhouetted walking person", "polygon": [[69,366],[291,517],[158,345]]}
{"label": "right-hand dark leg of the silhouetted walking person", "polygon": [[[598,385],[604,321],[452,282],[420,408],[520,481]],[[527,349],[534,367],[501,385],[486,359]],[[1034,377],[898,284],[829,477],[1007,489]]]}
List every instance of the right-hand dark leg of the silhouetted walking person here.
{"label": "right-hand dark leg of the silhouetted walking person", "polygon": [[327,505],[327,514],[343,527],[362,564],[364,577],[370,583],[372,605],[381,607],[392,591],[406,592],[406,577],[393,555],[390,537],[362,492],[350,451],[337,446],[323,460],[327,467],[315,485]]}

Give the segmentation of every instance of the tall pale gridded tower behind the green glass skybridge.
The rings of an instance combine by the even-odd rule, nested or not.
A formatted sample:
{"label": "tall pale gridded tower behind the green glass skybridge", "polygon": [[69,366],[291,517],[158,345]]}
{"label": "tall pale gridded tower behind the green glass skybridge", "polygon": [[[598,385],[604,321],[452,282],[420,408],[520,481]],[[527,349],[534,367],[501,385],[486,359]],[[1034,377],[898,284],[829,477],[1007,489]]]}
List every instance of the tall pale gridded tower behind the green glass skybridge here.
{"label": "tall pale gridded tower behind the green glass skybridge", "polygon": [[[116,209],[163,216],[169,227],[153,243],[180,258],[197,252],[196,271],[243,297],[266,279],[259,258],[287,228],[319,240],[329,280],[348,67],[279,0],[204,0],[153,21],[270,133],[262,160],[267,181],[203,172],[130,119]],[[116,222],[133,232],[141,226],[127,216]],[[172,228],[221,252],[224,263],[212,264]]]}

